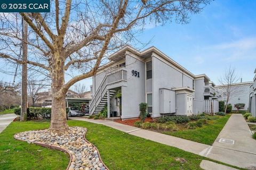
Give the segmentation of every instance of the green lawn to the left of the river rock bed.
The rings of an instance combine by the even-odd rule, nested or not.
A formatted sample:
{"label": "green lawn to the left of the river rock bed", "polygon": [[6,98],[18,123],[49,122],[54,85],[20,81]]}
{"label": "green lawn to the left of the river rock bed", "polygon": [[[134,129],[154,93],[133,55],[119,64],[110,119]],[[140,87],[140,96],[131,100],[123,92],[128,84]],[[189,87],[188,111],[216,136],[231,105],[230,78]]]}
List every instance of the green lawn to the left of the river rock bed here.
{"label": "green lawn to the left of the river rock bed", "polygon": [[12,122],[0,134],[0,169],[66,169],[68,154],[13,138],[18,132],[46,128],[48,122]]}

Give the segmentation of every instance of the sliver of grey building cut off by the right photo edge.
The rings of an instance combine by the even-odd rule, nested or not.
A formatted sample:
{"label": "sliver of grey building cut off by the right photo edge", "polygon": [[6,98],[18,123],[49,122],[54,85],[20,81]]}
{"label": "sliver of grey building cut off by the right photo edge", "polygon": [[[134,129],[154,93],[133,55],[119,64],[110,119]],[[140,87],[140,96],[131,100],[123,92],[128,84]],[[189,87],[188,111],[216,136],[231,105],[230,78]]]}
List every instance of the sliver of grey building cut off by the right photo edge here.
{"label": "sliver of grey building cut off by the right photo edge", "polygon": [[250,86],[249,112],[254,117],[256,117],[256,69],[254,73],[255,73],[255,76],[253,78],[253,83]]}

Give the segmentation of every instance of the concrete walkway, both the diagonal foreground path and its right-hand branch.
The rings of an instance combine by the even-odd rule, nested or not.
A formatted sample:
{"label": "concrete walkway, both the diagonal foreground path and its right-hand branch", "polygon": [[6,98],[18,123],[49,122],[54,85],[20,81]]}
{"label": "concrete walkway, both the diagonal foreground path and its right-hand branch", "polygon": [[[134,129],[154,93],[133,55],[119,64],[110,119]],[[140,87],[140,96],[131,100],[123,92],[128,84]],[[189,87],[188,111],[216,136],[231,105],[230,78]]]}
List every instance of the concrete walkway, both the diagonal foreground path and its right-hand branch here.
{"label": "concrete walkway, both the diagonal foreground path and its right-hand branch", "polygon": [[[233,147],[229,146],[228,144],[219,145],[219,143],[217,143],[218,139],[214,142],[213,146],[209,146],[186,139],[172,137],[170,135],[162,133],[135,128],[133,126],[124,125],[113,121],[91,120],[83,117],[72,117],[71,119],[103,124],[111,128],[135,135],[137,137],[149,139],[172,147],[177,147],[179,149],[191,152],[193,154],[208,157],[223,163],[227,163],[242,168],[254,166],[256,169],[256,154],[254,153],[254,149],[250,152],[248,151],[248,149],[243,149],[244,147],[251,148],[251,145],[254,147],[256,145],[252,142],[252,138],[250,138],[250,130],[245,128],[245,125],[247,125],[247,123],[244,121],[244,119],[242,120],[241,117],[239,116],[238,120],[236,120],[236,115],[237,114],[233,114],[229,118],[229,121],[222,130],[223,132],[221,131],[221,133],[218,136],[218,138],[228,137],[227,139],[234,139],[237,145],[232,145]],[[242,130],[239,130],[241,127]],[[239,133],[236,133],[236,131],[239,131]],[[229,133],[230,136],[225,135]],[[250,138],[250,141],[243,143],[243,138],[246,138],[247,140],[249,140]],[[240,145],[242,145],[241,147],[238,146],[239,143]]]}

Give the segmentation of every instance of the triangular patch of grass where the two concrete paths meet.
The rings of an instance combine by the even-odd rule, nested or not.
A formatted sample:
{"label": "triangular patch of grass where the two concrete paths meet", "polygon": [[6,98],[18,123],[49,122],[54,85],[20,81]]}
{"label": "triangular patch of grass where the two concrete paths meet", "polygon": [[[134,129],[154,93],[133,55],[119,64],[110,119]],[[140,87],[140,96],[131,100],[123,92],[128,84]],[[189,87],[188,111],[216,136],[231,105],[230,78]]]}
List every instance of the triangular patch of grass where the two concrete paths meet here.
{"label": "triangular patch of grass where the two concrete paths meet", "polygon": [[217,120],[213,120],[213,124],[206,124],[202,128],[163,133],[178,138],[204,143],[206,145],[212,145],[212,143],[218,137],[220,131],[228,121],[229,117],[230,115],[220,116],[220,118],[218,118]]}

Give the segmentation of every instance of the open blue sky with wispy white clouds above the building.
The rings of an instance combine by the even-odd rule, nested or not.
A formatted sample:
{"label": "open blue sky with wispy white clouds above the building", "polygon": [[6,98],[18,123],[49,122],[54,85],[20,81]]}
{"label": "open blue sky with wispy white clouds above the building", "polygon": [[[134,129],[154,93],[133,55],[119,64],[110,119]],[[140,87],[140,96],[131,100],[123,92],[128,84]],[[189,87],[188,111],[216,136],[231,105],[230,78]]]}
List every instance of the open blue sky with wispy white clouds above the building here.
{"label": "open blue sky with wispy white clouds above the building", "polygon": [[[217,0],[202,13],[192,15],[188,24],[168,23],[146,26],[137,37],[155,46],[193,74],[205,73],[218,84],[229,66],[243,81],[252,81],[256,68],[256,1]],[[3,68],[3,63],[0,63]],[[1,74],[0,80],[12,81]],[[88,90],[91,79],[83,80]]]}

